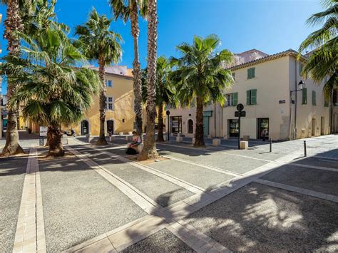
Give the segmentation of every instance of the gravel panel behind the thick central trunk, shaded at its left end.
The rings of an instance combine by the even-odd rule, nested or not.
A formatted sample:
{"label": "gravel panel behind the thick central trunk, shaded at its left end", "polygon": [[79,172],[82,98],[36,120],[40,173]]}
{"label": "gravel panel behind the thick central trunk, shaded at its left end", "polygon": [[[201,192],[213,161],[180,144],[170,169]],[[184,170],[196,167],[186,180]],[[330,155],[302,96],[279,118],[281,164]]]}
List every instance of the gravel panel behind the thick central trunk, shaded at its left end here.
{"label": "gravel panel behind the thick central trunk, shaded at its left end", "polygon": [[[187,150],[185,148],[176,148],[163,145],[162,155],[171,155],[174,158],[182,158],[192,162],[198,162],[203,165],[210,165],[221,170],[229,170],[244,174],[250,170],[265,165],[267,162],[262,160],[238,157],[235,155],[225,155],[223,153],[212,153],[210,151]],[[165,149],[165,150],[164,150]]]}

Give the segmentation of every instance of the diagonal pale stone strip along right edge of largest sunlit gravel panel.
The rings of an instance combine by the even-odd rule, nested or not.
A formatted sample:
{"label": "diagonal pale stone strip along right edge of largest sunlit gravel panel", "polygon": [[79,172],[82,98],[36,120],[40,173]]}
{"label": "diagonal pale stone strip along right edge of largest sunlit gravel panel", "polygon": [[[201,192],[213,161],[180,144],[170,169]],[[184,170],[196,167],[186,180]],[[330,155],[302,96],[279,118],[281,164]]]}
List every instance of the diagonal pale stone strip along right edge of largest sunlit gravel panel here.
{"label": "diagonal pale stone strip along right edge of largest sunlit gravel panel", "polygon": [[[77,150],[71,147],[67,147],[67,149],[71,151],[71,153],[73,153],[74,155],[80,158],[84,158],[84,155],[79,153]],[[135,202],[136,205],[138,205],[140,208],[145,210],[145,212],[147,212],[148,214],[153,212],[154,207],[160,208],[160,205],[158,205],[158,203],[151,200],[150,197],[145,195],[143,192],[140,192],[138,189],[130,185],[125,180],[121,179],[120,177],[113,174],[112,172],[106,170],[106,168],[101,167],[100,165],[98,165],[96,162],[94,162],[90,158],[84,158],[84,159],[85,159],[84,162],[86,162],[86,164],[89,167],[91,167],[93,170],[98,172],[98,174],[100,174],[103,178],[108,180],[108,182],[110,182],[112,185],[117,187],[118,190],[123,192],[123,194],[129,197],[130,200],[133,200],[133,202]]]}

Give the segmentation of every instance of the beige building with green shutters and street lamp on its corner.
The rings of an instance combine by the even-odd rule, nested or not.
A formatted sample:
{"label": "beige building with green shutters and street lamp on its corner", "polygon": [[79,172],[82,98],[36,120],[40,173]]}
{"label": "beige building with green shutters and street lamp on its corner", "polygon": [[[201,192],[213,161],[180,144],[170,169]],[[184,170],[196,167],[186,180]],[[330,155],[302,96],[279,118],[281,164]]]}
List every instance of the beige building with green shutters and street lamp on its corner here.
{"label": "beige building with green shutters and street lamp on its corner", "polygon": [[[255,49],[236,54],[234,65],[227,66],[235,83],[224,91],[226,105],[210,104],[204,108],[205,136],[237,137],[238,103],[244,105],[246,112],[240,122],[241,137],[260,139],[265,134],[273,140],[290,140],[329,134],[330,105],[324,101],[323,84],[304,80],[299,73],[306,58],[296,58],[297,52],[291,49],[274,55]],[[295,91],[299,90],[300,81],[304,82],[304,89]],[[193,136],[195,107],[169,110],[170,133]]]}

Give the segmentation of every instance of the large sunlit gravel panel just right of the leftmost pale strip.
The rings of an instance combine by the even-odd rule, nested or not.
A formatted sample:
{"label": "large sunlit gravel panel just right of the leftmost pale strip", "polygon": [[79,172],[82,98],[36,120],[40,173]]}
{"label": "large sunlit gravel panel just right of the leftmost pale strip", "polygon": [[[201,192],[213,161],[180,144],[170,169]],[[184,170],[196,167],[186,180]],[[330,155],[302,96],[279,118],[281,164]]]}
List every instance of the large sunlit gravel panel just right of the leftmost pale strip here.
{"label": "large sunlit gravel panel just right of the leftmost pale strip", "polygon": [[73,156],[39,160],[47,252],[58,252],[147,215]]}

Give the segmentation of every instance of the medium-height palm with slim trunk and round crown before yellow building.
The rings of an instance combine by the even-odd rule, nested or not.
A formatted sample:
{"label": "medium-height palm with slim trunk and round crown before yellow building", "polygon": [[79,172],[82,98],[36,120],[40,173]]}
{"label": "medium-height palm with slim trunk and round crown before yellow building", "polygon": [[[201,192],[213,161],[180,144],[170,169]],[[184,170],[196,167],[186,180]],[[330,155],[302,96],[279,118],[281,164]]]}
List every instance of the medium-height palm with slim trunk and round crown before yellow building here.
{"label": "medium-height palm with slim trunk and round crown before yellow building", "polygon": [[122,56],[120,42],[121,35],[111,31],[111,19],[106,15],[98,15],[93,8],[89,14],[88,21],[83,26],[76,27],[76,34],[79,35],[82,48],[88,58],[98,60],[98,75],[101,78],[100,91],[100,136],[96,145],[107,145],[104,125],[106,121],[106,86],[105,66],[106,64],[117,63]]}

